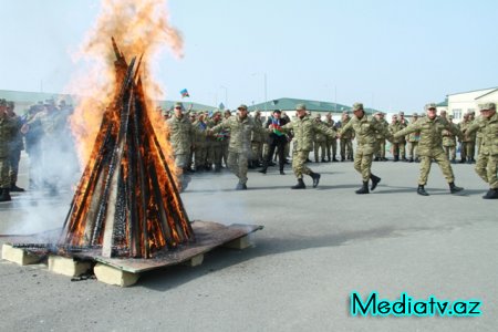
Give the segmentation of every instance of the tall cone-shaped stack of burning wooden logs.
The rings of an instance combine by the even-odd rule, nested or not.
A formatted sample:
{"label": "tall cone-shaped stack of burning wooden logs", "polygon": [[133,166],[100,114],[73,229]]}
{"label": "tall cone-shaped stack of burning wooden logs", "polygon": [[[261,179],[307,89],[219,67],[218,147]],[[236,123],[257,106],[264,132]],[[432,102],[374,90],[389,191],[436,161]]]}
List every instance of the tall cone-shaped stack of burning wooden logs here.
{"label": "tall cone-shaped stack of burning wooden logs", "polygon": [[112,42],[120,90],[103,115],[58,247],[151,258],[195,237],[147,114],[142,58],[137,68],[135,58],[127,64]]}

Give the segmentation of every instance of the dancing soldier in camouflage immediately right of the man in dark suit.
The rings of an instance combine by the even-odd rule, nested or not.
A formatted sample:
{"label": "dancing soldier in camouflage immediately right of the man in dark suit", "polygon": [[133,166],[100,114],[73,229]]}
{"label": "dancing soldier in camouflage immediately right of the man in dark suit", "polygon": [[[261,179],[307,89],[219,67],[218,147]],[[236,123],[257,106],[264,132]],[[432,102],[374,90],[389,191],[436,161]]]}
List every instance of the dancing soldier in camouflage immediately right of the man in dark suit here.
{"label": "dancing soldier in camouflage immediately right of the man in dark suit", "polygon": [[329,128],[321,121],[317,122],[311,120],[307,115],[307,106],[304,104],[298,104],[295,106],[297,117],[282,126],[284,132],[293,131],[294,133],[294,147],[292,154],[292,170],[298,178],[298,184],[292,186],[292,189],[305,189],[304,181],[302,179],[303,174],[311,176],[313,179],[313,188],[320,183],[320,174],[311,170],[305,160],[310,151],[313,148],[314,135],[320,132],[329,137],[335,137],[336,133],[333,128]]}

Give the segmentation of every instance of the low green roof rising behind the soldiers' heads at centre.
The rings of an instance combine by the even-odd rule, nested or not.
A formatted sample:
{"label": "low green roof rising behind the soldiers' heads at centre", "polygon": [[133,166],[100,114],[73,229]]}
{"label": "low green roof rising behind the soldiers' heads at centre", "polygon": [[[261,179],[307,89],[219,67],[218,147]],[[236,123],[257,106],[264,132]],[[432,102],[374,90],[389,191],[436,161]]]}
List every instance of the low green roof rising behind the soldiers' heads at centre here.
{"label": "low green roof rising behind the soldiers' heads at centre", "polygon": [[[274,111],[274,110],[283,110],[283,111],[292,111],[295,110],[297,104],[307,105],[307,110],[311,112],[332,112],[332,113],[342,113],[343,111],[351,111],[351,106],[346,106],[344,104],[339,103],[329,103],[321,101],[311,101],[311,100],[298,100],[298,98],[278,98],[268,101],[264,103],[259,103],[249,107],[249,111]],[[365,107],[365,113],[373,114],[377,112],[377,110]]]}

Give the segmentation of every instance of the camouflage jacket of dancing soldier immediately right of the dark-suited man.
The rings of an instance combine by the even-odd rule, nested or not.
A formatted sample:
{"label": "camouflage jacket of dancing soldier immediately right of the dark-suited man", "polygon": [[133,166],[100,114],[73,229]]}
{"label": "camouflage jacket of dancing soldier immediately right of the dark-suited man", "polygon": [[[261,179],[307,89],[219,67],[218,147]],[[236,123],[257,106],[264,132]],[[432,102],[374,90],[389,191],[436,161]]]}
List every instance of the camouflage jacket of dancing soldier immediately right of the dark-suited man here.
{"label": "camouflage jacket of dancing soldier immediately right of the dark-suited man", "polygon": [[335,137],[336,135],[333,128],[329,128],[323,122],[311,120],[308,115],[302,118],[294,118],[282,126],[282,129],[284,132],[293,131],[295,151],[312,151],[317,133],[322,133],[329,137]]}

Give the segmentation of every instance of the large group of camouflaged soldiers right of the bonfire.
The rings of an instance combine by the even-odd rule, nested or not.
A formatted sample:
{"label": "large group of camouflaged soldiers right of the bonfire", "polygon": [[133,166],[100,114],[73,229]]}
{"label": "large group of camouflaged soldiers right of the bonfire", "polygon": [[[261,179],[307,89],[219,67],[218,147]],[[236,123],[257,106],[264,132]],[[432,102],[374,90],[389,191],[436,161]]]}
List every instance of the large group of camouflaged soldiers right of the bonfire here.
{"label": "large group of camouflaged soldiers right of the bonfire", "polygon": [[[315,160],[320,160],[318,149],[322,148],[322,162],[325,162],[324,147],[329,145],[332,155],[329,162],[335,159],[336,139],[341,142],[342,160],[351,158],[354,162],[354,169],[362,176],[362,186],[356,194],[369,194],[374,190],[381,178],[371,172],[372,162],[385,159],[385,141],[392,143],[394,160],[419,162],[421,176],[418,179],[417,194],[428,196],[425,190],[432,162],[436,162],[443,170],[452,194],[461,191],[464,188],[455,185],[455,176],[450,162],[456,162],[455,148],[456,139],[461,142],[461,162],[476,163],[476,173],[489,184],[489,190],[484,198],[498,198],[498,123],[496,105],[487,103],[479,105],[480,116],[473,118],[471,114],[467,121],[460,125],[453,123],[452,116],[446,116],[445,112],[437,115],[436,104],[425,106],[424,116],[413,115],[408,122],[401,113],[395,116],[392,124],[384,118],[383,113],[376,113],[369,117],[365,114],[363,104],[355,103],[352,107],[353,117],[347,113],[343,114],[340,124],[334,124],[331,116],[325,116],[325,121],[312,118],[304,104],[295,106],[295,117],[290,120],[282,117],[282,112],[276,110],[263,125],[259,112],[255,116],[249,116],[248,107],[240,105],[237,114],[226,113],[225,117],[216,116],[206,121],[199,115],[194,122],[184,114],[181,103],[175,105],[175,114],[167,120],[169,127],[169,138],[174,148],[176,164],[184,170],[180,179],[183,188],[188,184],[187,177],[191,158],[191,137],[203,139],[217,139],[221,134],[224,141],[228,142],[227,166],[237,176],[236,189],[247,189],[248,168],[256,163],[255,156],[260,156],[259,149],[255,149],[255,135],[260,135],[268,145],[268,152],[263,153],[262,174],[267,173],[269,164],[272,162],[273,152],[279,153],[280,174],[283,172],[286,146],[292,141],[292,170],[298,179],[298,184],[292,189],[304,189],[303,176],[308,175],[312,179],[313,187],[320,183],[320,174],[313,172],[308,165],[308,157],[312,151],[315,152]],[[216,113],[215,113],[216,114]],[[220,114],[220,113],[219,113]],[[215,117],[215,115],[212,116]],[[317,138],[318,137],[318,138]],[[475,162],[471,142],[478,137],[478,159]],[[356,151],[353,154],[352,139],[356,139]],[[473,141],[474,139],[474,141]],[[406,141],[408,142],[408,158],[406,158]],[[450,142],[448,142],[450,141]],[[196,141],[197,142],[197,141]],[[326,144],[329,142],[329,144]],[[325,143],[325,144],[323,144]],[[335,146],[335,147],[334,147]],[[195,149],[194,149],[195,151]],[[351,154],[351,156],[347,156]],[[215,160],[215,168],[218,170],[221,159],[216,158],[212,153],[211,160]],[[197,158],[197,157],[196,157]],[[207,158],[209,159],[209,158]],[[203,158],[204,160],[204,158]],[[335,159],[336,160],[336,159]],[[197,167],[197,164],[196,164]],[[369,184],[371,186],[369,187]]]}

